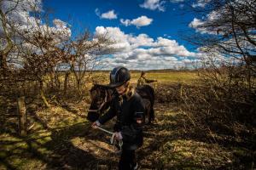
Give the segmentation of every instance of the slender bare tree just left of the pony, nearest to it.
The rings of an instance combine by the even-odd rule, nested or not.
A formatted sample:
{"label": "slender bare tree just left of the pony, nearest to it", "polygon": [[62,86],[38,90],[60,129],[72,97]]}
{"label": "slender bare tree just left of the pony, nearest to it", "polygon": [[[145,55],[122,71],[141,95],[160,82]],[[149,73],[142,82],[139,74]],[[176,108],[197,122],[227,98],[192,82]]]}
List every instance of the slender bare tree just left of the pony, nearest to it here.
{"label": "slender bare tree just left of the pony, nearest to it", "polygon": [[79,95],[82,94],[81,86],[86,72],[90,73],[101,59],[103,54],[108,54],[111,43],[107,37],[91,37],[89,31],[84,31],[72,43],[70,69],[75,77]]}

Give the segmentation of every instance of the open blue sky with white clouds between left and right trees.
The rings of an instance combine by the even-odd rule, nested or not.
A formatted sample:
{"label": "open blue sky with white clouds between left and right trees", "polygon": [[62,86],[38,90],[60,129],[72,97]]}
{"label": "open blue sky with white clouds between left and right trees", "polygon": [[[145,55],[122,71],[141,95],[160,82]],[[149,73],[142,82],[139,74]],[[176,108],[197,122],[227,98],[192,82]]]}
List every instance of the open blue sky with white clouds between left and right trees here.
{"label": "open blue sky with white clouds between left and right trees", "polygon": [[[110,66],[124,65],[137,70],[167,69],[195,60],[195,48],[181,36],[182,32],[195,31],[189,27],[195,16],[184,13],[183,0],[45,0],[43,8],[53,9],[55,19],[72,25],[73,36],[80,26],[92,33],[110,31],[113,39],[115,34],[119,35],[118,41],[126,45],[121,45],[122,53],[113,54],[108,59]],[[142,43],[136,44],[137,39]],[[181,50],[185,54],[177,53]],[[133,65],[136,62],[141,63]]]}

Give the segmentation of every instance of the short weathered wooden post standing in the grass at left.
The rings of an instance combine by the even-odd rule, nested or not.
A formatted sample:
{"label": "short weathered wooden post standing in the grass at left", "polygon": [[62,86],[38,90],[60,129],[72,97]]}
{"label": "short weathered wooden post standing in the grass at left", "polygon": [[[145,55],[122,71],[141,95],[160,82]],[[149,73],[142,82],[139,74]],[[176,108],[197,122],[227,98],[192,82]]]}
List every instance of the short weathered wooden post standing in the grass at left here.
{"label": "short weathered wooden post standing in the grass at left", "polygon": [[20,136],[26,136],[26,105],[25,105],[25,97],[20,97],[17,99],[18,105],[18,116],[19,116],[19,133]]}

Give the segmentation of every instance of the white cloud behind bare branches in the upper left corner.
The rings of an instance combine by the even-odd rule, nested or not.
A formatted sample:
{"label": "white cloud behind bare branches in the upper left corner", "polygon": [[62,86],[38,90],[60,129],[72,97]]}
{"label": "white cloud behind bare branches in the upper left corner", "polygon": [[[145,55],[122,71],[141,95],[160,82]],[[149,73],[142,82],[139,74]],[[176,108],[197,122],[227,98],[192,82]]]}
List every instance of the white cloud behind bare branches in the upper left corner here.
{"label": "white cloud behind bare branches in the upper left corner", "polygon": [[[32,37],[38,31],[42,34],[52,34],[56,42],[71,36],[71,30],[66,22],[55,19],[53,20],[54,25],[49,26],[49,23],[49,25],[44,24],[42,19],[32,15],[35,12],[44,12],[41,0],[3,0],[0,8],[6,14],[6,19],[8,20],[8,25],[6,26],[7,31],[11,31],[13,37],[20,37],[17,34],[18,31],[25,37]],[[10,28],[12,30],[9,30]],[[4,37],[3,35],[3,26],[0,21],[0,37]]]}

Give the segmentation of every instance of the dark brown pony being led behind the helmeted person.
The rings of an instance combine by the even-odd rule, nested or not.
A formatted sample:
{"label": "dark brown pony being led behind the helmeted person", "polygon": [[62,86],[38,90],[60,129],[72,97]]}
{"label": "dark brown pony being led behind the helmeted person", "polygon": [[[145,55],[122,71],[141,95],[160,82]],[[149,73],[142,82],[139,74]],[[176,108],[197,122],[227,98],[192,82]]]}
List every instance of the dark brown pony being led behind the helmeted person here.
{"label": "dark brown pony being led behind the helmeted person", "polygon": [[[143,105],[145,108],[145,122],[150,123],[154,121],[154,88],[148,85],[136,88],[137,94],[143,98]],[[114,89],[108,86],[95,84],[90,89],[90,108],[87,119],[90,122],[95,122],[111,104],[114,97]]]}

